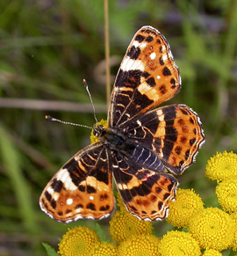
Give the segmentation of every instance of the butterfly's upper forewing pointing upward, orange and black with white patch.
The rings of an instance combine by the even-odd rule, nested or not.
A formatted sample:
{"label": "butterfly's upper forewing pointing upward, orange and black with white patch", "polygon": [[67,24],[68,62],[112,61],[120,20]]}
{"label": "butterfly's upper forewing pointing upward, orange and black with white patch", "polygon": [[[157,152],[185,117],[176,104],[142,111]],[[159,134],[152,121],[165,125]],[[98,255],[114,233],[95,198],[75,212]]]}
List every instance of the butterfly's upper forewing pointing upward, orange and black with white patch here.
{"label": "butterfly's upper forewing pointing upward, orange and black with white patch", "polygon": [[126,121],[174,96],[180,85],[169,43],[153,27],[143,26],[135,33],[118,69],[109,126],[123,128]]}

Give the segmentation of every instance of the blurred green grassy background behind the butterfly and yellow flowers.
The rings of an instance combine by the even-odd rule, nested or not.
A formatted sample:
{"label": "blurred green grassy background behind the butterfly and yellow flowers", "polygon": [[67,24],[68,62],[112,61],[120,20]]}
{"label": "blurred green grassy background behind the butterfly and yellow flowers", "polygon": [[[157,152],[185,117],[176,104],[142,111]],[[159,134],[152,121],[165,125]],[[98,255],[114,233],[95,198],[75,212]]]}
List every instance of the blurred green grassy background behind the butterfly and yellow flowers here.
{"label": "blurred green grassy background behind the butterfly and yellow flowers", "polygon": [[[111,74],[133,34],[145,25],[171,46],[183,89],[165,103],[182,103],[200,116],[206,143],[195,165],[179,177],[205,206],[218,206],[216,183],[205,165],[216,151],[237,152],[237,1],[176,0],[110,3]],[[56,223],[39,209],[39,195],[61,165],[90,143],[89,84],[97,119],[106,119],[104,1],[0,1],[0,255],[46,255],[68,227],[96,228],[95,221]],[[73,104],[72,104],[73,103]],[[99,222],[108,231],[108,220]],[[172,229],[154,223],[158,237]],[[108,237],[109,238],[109,237]]]}

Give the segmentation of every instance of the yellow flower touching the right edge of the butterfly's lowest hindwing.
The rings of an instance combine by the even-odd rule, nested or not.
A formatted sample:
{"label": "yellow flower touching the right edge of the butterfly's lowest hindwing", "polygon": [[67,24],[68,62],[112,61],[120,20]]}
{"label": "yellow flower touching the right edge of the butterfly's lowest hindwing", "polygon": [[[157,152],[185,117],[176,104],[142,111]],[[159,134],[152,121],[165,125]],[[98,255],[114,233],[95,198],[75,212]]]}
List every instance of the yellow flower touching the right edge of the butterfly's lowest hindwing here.
{"label": "yellow flower touching the right edge of the butterfly's lowest hindwing", "polygon": [[168,223],[178,228],[187,228],[190,218],[204,209],[204,202],[191,189],[177,189],[176,201],[169,201]]}

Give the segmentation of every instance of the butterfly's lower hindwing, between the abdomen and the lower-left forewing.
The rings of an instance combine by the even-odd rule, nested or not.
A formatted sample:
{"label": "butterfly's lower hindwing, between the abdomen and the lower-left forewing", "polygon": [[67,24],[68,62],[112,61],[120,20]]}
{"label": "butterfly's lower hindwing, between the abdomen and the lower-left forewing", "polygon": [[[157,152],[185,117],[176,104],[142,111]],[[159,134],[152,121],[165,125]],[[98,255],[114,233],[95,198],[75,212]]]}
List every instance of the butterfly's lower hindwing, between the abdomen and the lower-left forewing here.
{"label": "butterfly's lower hindwing, between the abdomen and the lower-left forewing", "polygon": [[175,200],[177,180],[168,173],[140,168],[125,157],[113,161],[113,177],[127,210],[142,220],[167,217],[169,201]]}

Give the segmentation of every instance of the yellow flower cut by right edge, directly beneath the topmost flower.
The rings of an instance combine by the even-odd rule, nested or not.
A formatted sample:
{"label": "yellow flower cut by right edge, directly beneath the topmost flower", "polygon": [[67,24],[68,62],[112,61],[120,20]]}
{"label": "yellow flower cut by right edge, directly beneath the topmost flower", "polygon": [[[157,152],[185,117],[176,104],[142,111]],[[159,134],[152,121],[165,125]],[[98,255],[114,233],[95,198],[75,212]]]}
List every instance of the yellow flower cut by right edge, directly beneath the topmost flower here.
{"label": "yellow flower cut by right edge, directly beneath the topmost flower", "polygon": [[237,211],[237,179],[226,179],[220,182],[216,188],[216,194],[224,211]]}

